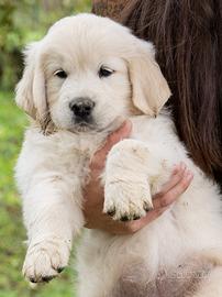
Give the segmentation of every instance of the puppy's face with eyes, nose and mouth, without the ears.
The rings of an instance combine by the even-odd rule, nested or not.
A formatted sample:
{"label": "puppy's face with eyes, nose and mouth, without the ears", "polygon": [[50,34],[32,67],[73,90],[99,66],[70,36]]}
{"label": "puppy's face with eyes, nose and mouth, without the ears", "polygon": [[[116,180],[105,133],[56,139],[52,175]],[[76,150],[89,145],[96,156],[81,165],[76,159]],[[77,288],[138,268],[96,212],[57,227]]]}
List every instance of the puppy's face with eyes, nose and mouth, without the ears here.
{"label": "puppy's face with eyes, nose and mouth, without the ears", "polygon": [[[86,53],[54,51],[44,58],[47,102],[57,128],[86,132],[109,129],[125,117],[131,96],[127,68],[116,56],[100,56],[85,44]],[[78,47],[78,44],[74,46]],[[90,53],[93,51],[93,54]]]}

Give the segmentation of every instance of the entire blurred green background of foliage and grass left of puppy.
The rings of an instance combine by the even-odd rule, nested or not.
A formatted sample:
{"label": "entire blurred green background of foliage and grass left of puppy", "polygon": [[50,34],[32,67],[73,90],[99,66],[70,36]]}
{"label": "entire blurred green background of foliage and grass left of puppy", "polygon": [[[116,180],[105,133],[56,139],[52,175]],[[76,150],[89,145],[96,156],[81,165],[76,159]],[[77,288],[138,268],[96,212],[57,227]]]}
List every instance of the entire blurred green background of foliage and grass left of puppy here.
{"label": "entire blurred green background of foliage and grass left of puppy", "polygon": [[0,297],[74,296],[71,268],[36,288],[21,274],[25,230],[13,167],[27,121],[13,101],[13,90],[25,44],[41,38],[56,20],[90,9],[90,0],[0,0]]}

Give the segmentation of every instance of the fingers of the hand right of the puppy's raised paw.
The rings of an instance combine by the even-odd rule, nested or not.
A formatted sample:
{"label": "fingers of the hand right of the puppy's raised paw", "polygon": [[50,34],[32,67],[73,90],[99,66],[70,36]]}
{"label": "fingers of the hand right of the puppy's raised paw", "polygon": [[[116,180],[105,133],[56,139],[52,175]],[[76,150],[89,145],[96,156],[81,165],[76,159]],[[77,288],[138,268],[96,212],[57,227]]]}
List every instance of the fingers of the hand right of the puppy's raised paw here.
{"label": "fingers of the hand right of the puppy's raised paw", "polygon": [[193,174],[187,169],[185,164],[175,168],[173,176],[166,183],[160,193],[155,195],[153,204],[155,209],[171,205],[182,193],[186,191],[193,178]]}

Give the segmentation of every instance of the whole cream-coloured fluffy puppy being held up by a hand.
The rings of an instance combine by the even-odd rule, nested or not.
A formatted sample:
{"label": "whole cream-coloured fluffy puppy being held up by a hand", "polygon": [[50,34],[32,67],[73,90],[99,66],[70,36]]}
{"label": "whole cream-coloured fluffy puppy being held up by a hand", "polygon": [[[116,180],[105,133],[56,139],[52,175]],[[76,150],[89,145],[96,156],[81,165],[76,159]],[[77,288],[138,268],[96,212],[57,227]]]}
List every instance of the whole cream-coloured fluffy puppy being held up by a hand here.
{"label": "whole cream-coloured fluffy puppy being held up by a hand", "polygon": [[16,165],[29,237],[24,275],[48,280],[68,264],[85,224],[90,158],[130,118],[131,139],[107,158],[106,213],[145,216],[178,162],[195,178],[170,210],[133,235],[84,233],[78,296],[222,296],[221,197],[188,157],[169,114],[157,116],[170,91],[152,44],[109,19],[79,14],[54,24],[25,55],[16,88],[18,105],[32,118]]}

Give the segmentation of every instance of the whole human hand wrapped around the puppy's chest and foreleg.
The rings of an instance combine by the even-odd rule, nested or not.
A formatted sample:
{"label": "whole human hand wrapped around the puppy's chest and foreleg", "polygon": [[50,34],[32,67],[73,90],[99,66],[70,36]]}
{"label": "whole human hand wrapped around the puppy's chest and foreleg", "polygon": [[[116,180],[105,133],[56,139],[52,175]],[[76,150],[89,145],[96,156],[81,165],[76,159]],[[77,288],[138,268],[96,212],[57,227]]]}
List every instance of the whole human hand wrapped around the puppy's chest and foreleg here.
{"label": "whole human hand wrapped around the puppy's chest and foreleg", "polygon": [[104,146],[95,154],[91,161],[91,178],[85,188],[84,215],[86,228],[99,229],[113,234],[134,233],[168,209],[192,180],[192,173],[184,163],[180,163],[175,166],[170,179],[163,186],[162,190],[153,197],[154,209],[148,211],[146,217],[136,221],[119,222],[104,215],[102,212],[104,196],[99,176],[104,168],[109,151],[115,143],[129,138],[131,130],[132,123],[126,121],[121,128],[108,136]]}

